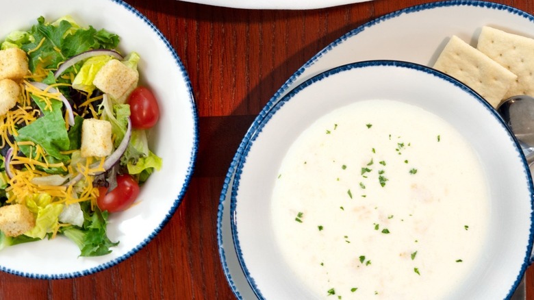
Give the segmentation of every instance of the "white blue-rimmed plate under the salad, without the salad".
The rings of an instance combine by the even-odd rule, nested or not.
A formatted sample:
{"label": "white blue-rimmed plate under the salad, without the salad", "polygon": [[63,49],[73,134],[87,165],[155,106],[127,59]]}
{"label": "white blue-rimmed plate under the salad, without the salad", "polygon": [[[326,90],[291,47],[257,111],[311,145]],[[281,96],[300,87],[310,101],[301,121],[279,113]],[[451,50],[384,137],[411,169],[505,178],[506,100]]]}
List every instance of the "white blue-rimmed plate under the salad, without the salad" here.
{"label": "white blue-rimmed plate under the salad, without the salad", "polygon": [[120,241],[112,253],[78,257],[79,248],[62,236],[0,251],[0,270],[25,277],[77,277],[129,258],[147,245],[173,216],[190,181],[196,158],[196,106],[188,75],[173,47],[147,18],[123,1],[92,0],[80,4],[71,0],[56,0],[53,5],[40,0],[6,1],[0,11],[0,39],[15,29],[29,29],[39,16],[55,21],[66,14],[80,25],[118,34],[123,52],[140,54],[141,82],[153,90],[159,101],[162,114],[149,141],[154,153],[162,157],[163,167],[142,186],[137,205],[110,216],[108,236]]}

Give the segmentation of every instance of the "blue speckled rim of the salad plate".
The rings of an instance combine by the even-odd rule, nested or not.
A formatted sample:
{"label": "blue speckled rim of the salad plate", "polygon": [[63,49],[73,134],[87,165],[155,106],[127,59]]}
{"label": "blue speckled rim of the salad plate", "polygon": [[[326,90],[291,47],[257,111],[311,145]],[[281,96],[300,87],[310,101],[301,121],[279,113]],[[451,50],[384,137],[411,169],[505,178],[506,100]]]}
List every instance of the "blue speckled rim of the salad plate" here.
{"label": "blue speckled rim of the salad plate", "polygon": [[20,276],[23,276],[23,277],[29,277],[29,278],[35,278],[35,279],[66,279],[66,278],[75,278],[75,277],[81,277],[81,276],[85,276],[85,275],[90,275],[92,273],[97,273],[99,271],[105,270],[106,268],[110,268],[111,266],[114,266],[114,265],[118,264],[119,262],[123,262],[123,260],[126,260],[131,255],[135,254],[137,251],[142,249],[142,247],[147,245],[158,233],[160,233],[160,231],[168,223],[170,218],[173,216],[173,214],[175,213],[175,211],[179,207],[179,205],[180,205],[180,203],[181,203],[181,201],[183,199],[183,195],[185,195],[186,189],[188,188],[189,182],[190,182],[191,177],[192,177],[192,173],[194,171],[194,162],[196,161],[196,153],[197,153],[198,148],[199,148],[199,116],[198,116],[198,113],[197,113],[197,110],[196,110],[196,104],[194,102],[192,86],[191,86],[191,82],[190,82],[190,79],[188,77],[188,73],[186,71],[186,68],[183,66],[183,64],[182,64],[180,58],[178,57],[178,54],[176,53],[175,49],[173,48],[173,46],[170,45],[170,42],[168,42],[168,40],[160,32],[160,30],[157,29],[157,27],[155,27],[155,25],[151,21],[149,21],[149,19],[146,16],[144,16],[143,14],[138,12],[138,10],[136,10],[133,7],[131,7],[129,4],[125,3],[122,0],[110,0],[110,1],[112,1],[112,2],[114,2],[116,4],[118,4],[118,5],[121,5],[123,8],[125,8],[126,10],[131,12],[133,15],[137,16],[138,18],[140,18],[140,20],[142,20],[146,25],[151,27],[153,32],[155,34],[157,34],[157,36],[160,38],[160,40],[162,42],[164,42],[164,44],[167,47],[168,51],[173,55],[173,58],[175,59],[176,66],[179,68],[182,77],[186,80],[186,85],[187,85],[188,92],[189,92],[189,101],[190,101],[190,105],[191,105],[191,113],[193,114],[193,120],[194,120],[194,141],[193,141],[193,147],[191,149],[191,158],[190,158],[190,161],[189,161],[188,172],[187,172],[187,175],[186,175],[186,181],[183,182],[181,190],[179,192],[179,195],[177,195],[177,198],[175,199],[175,201],[173,203],[173,206],[170,208],[170,210],[164,216],[164,218],[162,220],[162,223],[160,223],[160,225],[155,227],[153,232],[151,232],[151,234],[149,234],[149,236],[147,236],[147,238],[144,238],[144,240],[142,242],[140,242],[139,245],[137,245],[136,247],[133,247],[133,249],[131,249],[130,251],[128,251],[124,255],[120,256],[119,258],[116,258],[116,259],[111,260],[109,262],[105,262],[105,263],[100,264],[99,266],[96,266],[96,267],[93,267],[93,268],[88,268],[88,269],[86,269],[84,271],[78,271],[78,272],[73,272],[73,273],[61,273],[61,274],[23,273],[23,272],[20,272],[20,271],[12,270],[10,268],[5,268],[4,266],[0,266],[0,271],[3,271],[5,273],[10,273],[10,274],[14,274],[14,275],[20,275]]}

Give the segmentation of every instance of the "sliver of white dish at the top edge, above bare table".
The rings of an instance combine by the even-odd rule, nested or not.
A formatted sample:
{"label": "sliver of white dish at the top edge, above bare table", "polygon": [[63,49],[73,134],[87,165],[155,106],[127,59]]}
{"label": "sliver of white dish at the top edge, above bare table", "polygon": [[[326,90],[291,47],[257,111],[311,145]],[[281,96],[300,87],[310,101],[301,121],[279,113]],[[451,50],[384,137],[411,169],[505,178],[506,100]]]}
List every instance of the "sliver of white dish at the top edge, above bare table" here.
{"label": "sliver of white dish at the top edge, above bare table", "polygon": [[187,2],[255,10],[312,10],[372,0],[182,0]]}

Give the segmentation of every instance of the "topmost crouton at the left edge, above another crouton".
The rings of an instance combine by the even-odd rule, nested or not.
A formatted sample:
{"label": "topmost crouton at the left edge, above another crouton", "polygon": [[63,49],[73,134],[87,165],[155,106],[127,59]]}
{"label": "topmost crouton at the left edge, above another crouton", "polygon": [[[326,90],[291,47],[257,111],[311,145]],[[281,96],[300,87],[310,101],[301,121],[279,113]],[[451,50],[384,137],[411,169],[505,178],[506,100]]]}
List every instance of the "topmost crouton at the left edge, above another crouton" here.
{"label": "topmost crouton at the left edge, above another crouton", "polygon": [[0,50],[0,79],[23,79],[28,74],[28,58],[24,50],[8,48]]}

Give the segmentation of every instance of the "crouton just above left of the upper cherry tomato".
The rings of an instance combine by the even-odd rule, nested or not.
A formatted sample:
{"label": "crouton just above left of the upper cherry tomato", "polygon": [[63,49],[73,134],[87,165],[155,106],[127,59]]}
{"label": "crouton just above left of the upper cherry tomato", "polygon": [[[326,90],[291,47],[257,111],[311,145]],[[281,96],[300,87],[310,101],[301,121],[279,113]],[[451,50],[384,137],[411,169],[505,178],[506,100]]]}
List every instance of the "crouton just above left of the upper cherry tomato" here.
{"label": "crouton just above left of the upper cherry tomato", "polygon": [[139,73],[118,60],[110,60],[94,76],[92,84],[109,94],[118,103],[124,103],[129,92],[135,88]]}

